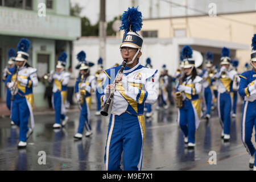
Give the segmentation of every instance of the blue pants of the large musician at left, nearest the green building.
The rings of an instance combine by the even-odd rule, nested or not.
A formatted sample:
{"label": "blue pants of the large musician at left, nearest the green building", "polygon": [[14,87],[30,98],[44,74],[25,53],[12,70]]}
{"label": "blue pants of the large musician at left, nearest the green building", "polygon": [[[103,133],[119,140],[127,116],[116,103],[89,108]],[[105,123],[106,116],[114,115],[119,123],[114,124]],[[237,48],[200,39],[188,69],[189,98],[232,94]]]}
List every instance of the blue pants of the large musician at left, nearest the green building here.
{"label": "blue pants of the large musician at left, nearest the green building", "polygon": [[15,125],[19,126],[19,140],[26,142],[28,131],[28,118],[30,117],[30,110],[27,105],[26,97],[16,94],[14,101],[11,104],[11,120]]}

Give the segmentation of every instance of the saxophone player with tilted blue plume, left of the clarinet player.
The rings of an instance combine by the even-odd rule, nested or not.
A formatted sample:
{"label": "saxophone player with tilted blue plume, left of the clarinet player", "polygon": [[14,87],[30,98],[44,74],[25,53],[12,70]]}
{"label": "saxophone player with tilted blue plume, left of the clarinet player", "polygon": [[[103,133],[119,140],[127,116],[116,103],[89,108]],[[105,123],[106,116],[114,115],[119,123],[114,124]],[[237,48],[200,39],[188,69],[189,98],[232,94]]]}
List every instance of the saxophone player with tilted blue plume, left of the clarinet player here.
{"label": "saxophone player with tilted blue plume, left of the clarinet player", "polygon": [[80,108],[79,128],[77,133],[74,135],[76,139],[82,139],[82,133],[84,127],[86,129],[85,137],[92,135],[92,129],[90,127],[90,109],[88,105],[87,97],[92,95],[92,90],[96,90],[97,83],[96,77],[90,75],[89,63],[85,60],[85,52],[81,51],[77,54],[77,60],[80,61],[80,74],[76,79],[75,93],[77,103]]}

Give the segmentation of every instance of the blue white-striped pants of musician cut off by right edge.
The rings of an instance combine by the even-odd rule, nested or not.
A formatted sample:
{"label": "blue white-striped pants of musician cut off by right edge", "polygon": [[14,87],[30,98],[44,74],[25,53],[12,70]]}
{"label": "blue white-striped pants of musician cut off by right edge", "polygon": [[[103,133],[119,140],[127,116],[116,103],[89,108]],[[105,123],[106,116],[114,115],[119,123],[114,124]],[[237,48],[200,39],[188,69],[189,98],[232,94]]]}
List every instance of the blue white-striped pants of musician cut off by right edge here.
{"label": "blue white-striped pants of musician cut off by right edge", "polygon": [[[243,115],[242,115],[242,142],[251,156],[255,153],[255,148],[251,142],[251,135],[253,134],[253,127],[256,126],[256,101],[243,103]],[[255,134],[256,138],[256,134]],[[256,142],[256,139],[255,139]],[[254,166],[256,166],[256,160],[254,160]]]}

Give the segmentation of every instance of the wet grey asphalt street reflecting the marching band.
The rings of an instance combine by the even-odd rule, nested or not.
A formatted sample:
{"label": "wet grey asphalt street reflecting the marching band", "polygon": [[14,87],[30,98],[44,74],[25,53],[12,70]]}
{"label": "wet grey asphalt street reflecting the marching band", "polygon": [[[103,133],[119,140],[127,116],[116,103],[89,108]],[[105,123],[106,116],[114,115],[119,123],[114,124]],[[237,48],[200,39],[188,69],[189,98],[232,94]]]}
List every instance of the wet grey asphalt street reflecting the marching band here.
{"label": "wet grey asphalt street reflecting the marching band", "polygon": [[[209,122],[201,119],[196,131],[195,150],[188,151],[176,122],[176,107],[155,110],[146,119],[146,139],[142,170],[249,170],[249,154],[241,141],[242,105],[232,118],[230,142],[222,142],[217,110]],[[93,135],[75,141],[79,111],[67,113],[69,121],[60,130],[53,130],[54,114],[35,115],[35,130],[27,140],[27,148],[18,150],[18,127],[10,126],[9,118],[0,118],[0,170],[105,170],[104,154],[109,117],[96,117],[91,111]],[[85,131],[84,131],[85,133]],[[252,137],[254,143],[254,133]],[[39,164],[39,152],[46,154],[46,164]],[[210,151],[217,162],[210,165]],[[42,159],[42,158],[40,158]],[[42,160],[40,160],[42,161]]]}

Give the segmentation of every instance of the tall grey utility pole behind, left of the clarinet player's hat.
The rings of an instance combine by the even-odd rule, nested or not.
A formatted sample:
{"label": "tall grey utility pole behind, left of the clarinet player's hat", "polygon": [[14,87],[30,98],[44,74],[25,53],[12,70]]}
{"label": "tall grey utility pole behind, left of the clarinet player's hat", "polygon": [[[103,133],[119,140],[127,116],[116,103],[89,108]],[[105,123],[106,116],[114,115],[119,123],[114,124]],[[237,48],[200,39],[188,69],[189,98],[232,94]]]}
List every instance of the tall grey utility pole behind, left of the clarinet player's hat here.
{"label": "tall grey utility pole behind, left of the clarinet player's hat", "polygon": [[106,0],[100,0],[100,57],[106,67]]}

